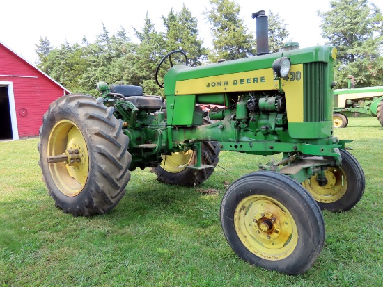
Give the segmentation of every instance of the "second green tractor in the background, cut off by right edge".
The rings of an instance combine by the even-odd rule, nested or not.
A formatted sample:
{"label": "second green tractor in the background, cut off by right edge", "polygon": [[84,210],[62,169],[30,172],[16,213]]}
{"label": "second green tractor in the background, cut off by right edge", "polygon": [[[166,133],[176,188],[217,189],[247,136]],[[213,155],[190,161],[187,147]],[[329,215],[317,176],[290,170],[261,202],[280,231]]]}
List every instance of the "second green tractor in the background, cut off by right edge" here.
{"label": "second green tractor in the background, cut off by right edge", "polygon": [[377,117],[383,126],[383,86],[354,88],[354,76],[347,76],[348,88],[334,90],[334,128],[345,128],[352,113]]}

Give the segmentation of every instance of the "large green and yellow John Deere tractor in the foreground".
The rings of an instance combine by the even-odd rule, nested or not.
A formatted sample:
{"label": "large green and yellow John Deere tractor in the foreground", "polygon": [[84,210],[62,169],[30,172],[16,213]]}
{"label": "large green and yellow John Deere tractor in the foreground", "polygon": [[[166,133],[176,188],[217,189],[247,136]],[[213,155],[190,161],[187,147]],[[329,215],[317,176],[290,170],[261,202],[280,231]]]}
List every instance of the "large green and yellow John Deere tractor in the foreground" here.
{"label": "large green and yellow John Deere tractor in the foreground", "polygon": [[[269,54],[267,16],[252,16],[258,56],[189,66],[184,52],[172,51],[155,74],[165,100],[101,82],[97,99],[54,101],[38,150],[56,206],[75,216],[107,213],[137,167],[151,168],[163,183],[197,186],[214,172],[220,151],[281,154],[230,185],[221,226],[244,261],[286,274],[311,268],[325,243],[321,209],[347,211],[365,187],[345,147],[351,141],[333,135],[336,48]],[[173,65],[176,56],[185,63]],[[165,63],[172,67],[162,81]],[[203,112],[210,104],[216,108]]]}

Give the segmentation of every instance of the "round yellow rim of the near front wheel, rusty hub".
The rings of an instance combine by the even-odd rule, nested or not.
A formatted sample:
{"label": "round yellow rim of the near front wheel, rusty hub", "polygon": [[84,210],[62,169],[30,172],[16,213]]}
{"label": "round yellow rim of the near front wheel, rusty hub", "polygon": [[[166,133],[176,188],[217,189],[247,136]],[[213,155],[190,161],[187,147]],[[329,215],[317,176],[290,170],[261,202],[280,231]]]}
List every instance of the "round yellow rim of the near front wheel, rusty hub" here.
{"label": "round yellow rim of the near front wheel, rusty hub", "polygon": [[242,199],[235,209],[234,226],[244,246],[260,258],[281,260],[297,247],[295,220],[272,197],[251,195]]}

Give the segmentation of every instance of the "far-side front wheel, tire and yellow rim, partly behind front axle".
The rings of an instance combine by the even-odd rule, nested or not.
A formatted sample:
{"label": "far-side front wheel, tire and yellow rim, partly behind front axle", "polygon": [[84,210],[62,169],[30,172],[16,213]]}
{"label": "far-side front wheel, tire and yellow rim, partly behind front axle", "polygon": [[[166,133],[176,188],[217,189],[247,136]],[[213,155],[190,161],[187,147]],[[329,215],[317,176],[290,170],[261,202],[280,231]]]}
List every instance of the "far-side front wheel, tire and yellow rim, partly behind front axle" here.
{"label": "far-side front wheel, tire and yellow rim, partly behind front axle", "polygon": [[359,202],[364,193],[366,179],[361,165],[348,151],[342,149],[341,156],[341,167],[327,167],[325,170],[325,186],[318,184],[316,175],[302,183],[321,209],[347,211]]}

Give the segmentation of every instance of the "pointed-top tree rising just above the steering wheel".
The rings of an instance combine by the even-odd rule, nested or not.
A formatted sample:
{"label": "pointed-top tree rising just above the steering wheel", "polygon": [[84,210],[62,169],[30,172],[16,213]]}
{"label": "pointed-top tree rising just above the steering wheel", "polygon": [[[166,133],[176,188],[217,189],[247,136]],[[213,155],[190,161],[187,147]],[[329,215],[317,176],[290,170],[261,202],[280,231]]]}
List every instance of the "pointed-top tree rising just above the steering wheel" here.
{"label": "pointed-top tree rising just above the steering wheel", "polygon": [[184,6],[180,13],[170,10],[167,17],[162,16],[166,28],[166,47],[168,51],[182,50],[187,53],[191,63],[201,63],[207,56],[203,41],[198,39],[198,20]]}

